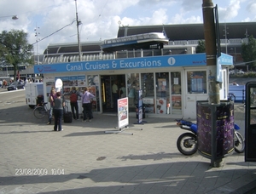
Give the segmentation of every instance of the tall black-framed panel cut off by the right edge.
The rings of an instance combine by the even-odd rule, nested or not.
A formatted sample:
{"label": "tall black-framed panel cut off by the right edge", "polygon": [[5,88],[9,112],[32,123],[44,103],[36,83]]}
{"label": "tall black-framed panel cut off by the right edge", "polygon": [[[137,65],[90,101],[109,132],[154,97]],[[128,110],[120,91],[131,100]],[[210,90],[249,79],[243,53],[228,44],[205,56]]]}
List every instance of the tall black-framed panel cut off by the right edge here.
{"label": "tall black-framed panel cut off by the right edge", "polygon": [[256,162],[256,82],[246,84],[245,162]]}

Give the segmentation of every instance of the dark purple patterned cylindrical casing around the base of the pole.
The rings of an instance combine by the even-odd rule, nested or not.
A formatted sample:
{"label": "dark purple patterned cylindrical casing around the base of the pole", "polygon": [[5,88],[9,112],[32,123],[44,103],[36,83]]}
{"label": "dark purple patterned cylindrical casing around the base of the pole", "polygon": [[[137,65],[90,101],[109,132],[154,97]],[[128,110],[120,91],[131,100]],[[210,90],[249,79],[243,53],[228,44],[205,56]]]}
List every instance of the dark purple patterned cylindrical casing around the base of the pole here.
{"label": "dark purple patterned cylindrical casing around the base of the pole", "polygon": [[222,100],[211,105],[206,100],[196,102],[198,151],[212,161],[234,151],[234,102]]}

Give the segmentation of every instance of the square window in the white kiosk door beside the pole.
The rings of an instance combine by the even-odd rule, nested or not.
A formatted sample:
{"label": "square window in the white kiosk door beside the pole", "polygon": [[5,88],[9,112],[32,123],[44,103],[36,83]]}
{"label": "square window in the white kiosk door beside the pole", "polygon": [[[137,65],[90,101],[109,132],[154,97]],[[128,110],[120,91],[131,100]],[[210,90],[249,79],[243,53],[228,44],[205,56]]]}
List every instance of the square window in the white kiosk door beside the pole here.
{"label": "square window in the white kiosk door beside the pole", "polygon": [[188,93],[207,93],[207,71],[187,71]]}

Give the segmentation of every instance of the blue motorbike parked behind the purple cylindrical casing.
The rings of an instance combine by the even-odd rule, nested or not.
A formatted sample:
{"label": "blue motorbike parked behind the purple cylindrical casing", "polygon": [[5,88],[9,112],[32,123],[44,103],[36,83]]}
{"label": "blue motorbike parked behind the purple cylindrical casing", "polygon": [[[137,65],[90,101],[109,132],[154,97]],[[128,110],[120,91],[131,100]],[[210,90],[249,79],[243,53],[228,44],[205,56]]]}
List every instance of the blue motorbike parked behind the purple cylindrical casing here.
{"label": "blue motorbike parked behind the purple cylindrical casing", "polygon": [[[180,151],[183,155],[189,156],[195,154],[197,151],[197,124],[185,121],[183,119],[176,120],[177,126],[179,128],[188,130],[188,133],[181,134],[177,138],[177,150]],[[245,149],[245,142],[242,135],[237,131],[240,127],[235,123],[234,124],[234,143],[235,151],[237,153],[243,153]]]}

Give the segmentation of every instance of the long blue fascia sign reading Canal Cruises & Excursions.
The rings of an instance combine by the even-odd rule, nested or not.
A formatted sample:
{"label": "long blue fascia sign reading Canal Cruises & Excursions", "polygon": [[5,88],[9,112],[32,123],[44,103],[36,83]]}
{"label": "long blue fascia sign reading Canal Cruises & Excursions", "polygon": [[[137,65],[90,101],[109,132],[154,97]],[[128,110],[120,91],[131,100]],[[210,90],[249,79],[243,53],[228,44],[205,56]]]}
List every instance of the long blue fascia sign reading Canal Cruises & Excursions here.
{"label": "long blue fascia sign reading Canal Cruises & Excursions", "polygon": [[[222,54],[223,55],[223,54]],[[230,56],[230,55],[227,55]],[[227,62],[225,58],[222,62]],[[231,60],[233,62],[233,60]],[[224,65],[224,64],[222,64]],[[60,73],[78,71],[114,71],[127,69],[152,69],[177,66],[207,66],[206,54],[178,54],[118,60],[92,60],[34,66],[34,73]]]}

